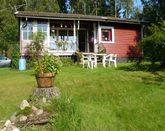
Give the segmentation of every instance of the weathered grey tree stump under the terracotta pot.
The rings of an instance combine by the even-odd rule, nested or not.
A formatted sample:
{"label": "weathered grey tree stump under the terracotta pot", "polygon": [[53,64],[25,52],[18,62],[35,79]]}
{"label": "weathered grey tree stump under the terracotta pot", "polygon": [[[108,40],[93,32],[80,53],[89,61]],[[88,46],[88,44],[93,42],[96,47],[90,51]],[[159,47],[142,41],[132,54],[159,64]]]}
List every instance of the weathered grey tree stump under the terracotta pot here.
{"label": "weathered grey tree stump under the terracotta pot", "polygon": [[47,98],[51,97],[60,97],[60,90],[57,87],[49,87],[49,88],[35,88],[33,90],[33,96],[44,96]]}

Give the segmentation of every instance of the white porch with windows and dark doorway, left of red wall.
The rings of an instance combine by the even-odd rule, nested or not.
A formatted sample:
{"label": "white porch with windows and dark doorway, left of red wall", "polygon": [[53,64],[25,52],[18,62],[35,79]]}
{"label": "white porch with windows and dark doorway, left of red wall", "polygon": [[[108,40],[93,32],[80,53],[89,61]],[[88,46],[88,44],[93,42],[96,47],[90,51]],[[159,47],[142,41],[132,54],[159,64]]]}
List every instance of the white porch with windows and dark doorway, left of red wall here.
{"label": "white porch with windows and dark doorway, left of red wall", "polygon": [[34,32],[45,33],[44,49],[50,54],[71,56],[76,51],[97,52],[95,22],[80,20],[40,20],[21,19],[22,55],[26,55],[26,46],[31,43]]}

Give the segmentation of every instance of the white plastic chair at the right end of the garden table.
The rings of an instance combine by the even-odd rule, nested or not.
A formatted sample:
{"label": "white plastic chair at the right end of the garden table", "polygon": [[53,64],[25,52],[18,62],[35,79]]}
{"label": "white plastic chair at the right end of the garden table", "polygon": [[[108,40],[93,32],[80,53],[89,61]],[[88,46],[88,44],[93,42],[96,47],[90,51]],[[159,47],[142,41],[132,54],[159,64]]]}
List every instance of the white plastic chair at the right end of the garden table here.
{"label": "white plastic chair at the right end of the garden table", "polygon": [[117,67],[117,54],[108,54],[105,56],[105,63],[108,63],[108,66],[111,66],[111,63]]}

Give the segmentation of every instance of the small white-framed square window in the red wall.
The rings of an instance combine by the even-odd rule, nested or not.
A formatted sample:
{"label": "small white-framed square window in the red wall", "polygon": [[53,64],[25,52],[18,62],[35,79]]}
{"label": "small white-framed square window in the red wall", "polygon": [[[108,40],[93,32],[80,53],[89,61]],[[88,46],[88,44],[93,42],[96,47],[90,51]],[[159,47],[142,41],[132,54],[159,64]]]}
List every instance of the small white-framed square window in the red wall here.
{"label": "small white-framed square window in the red wall", "polygon": [[114,43],[114,28],[101,26],[99,30],[100,43]]}

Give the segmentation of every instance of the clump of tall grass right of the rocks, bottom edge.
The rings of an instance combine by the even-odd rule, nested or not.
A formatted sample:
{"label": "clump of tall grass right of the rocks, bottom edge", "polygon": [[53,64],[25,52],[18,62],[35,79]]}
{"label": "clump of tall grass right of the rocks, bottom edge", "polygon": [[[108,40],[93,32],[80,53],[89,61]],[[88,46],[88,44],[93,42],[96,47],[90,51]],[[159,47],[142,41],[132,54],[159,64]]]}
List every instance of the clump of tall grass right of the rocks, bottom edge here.
{"label": "clump of tall grass right of the rocks, bottom edge", "polygon": [[61,97],[52,101],[55,111],[51,118],[52,130],[78,131],[81,129],[81,115],[75,101],[68,97]]}

